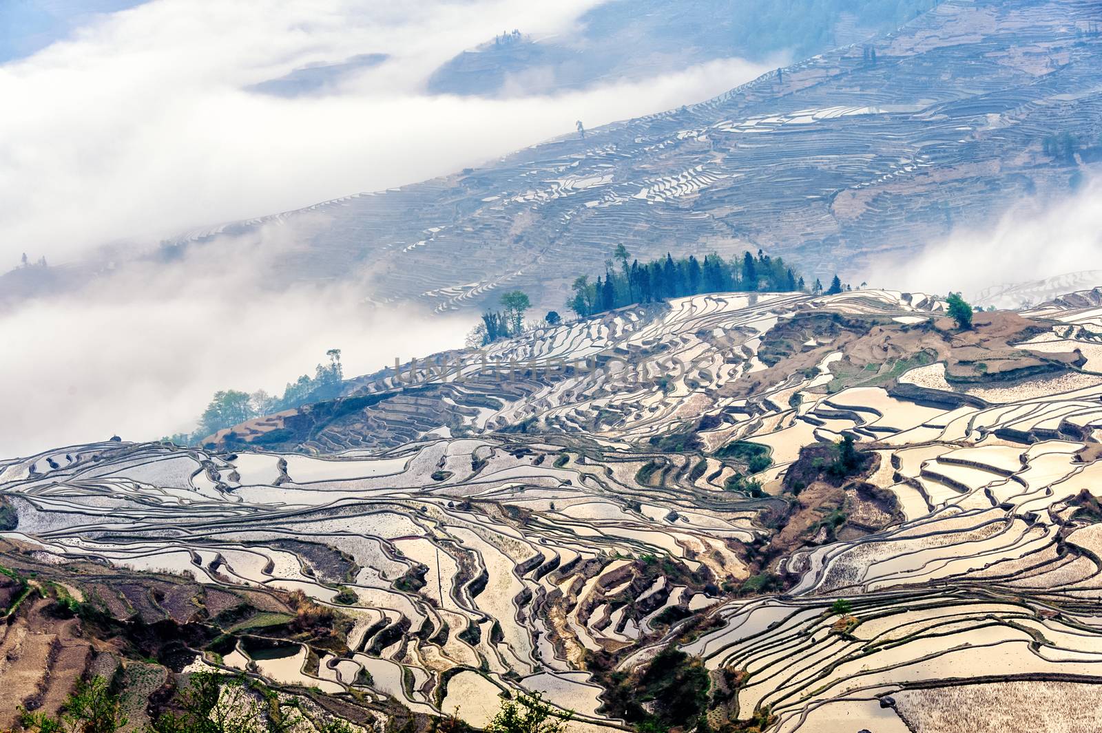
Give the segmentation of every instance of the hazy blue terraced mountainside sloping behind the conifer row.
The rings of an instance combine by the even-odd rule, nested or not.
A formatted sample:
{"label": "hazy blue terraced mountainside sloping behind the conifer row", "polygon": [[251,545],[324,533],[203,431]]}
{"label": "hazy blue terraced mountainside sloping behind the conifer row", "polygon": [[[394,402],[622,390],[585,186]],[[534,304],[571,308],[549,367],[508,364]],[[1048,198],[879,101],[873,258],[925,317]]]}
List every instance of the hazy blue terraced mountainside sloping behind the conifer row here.
{"label": "hazy blue terraced mountainside sloping behind the conifer row", "polygon": [[[367,266],[378,300],[436,310],[515,287],[561,308],[569,278],[619,243],[640,261],[765,248],[856,283],[877,258],[1066,195],[1096,167],[1100,23],[1093,0],[949,0],[714,99],[188,241],[290,227],[295,280]],[[1046,153],[1065,133],[1079,149]]]}

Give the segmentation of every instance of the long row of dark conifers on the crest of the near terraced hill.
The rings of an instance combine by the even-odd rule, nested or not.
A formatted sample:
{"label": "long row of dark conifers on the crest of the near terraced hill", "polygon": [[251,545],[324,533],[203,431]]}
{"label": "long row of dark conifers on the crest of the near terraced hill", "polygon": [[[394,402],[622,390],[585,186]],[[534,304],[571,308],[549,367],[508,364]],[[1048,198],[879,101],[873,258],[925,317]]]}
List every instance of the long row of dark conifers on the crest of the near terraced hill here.
{"label": "long row of dark conifers on the crest of the near terraced hill", "polygon": [[619,244],[605,263],[604,276],[598,275],[595,282],[591,282],[588,276],[582,275],[574,281],[574,295],[566,302],[566,307],[584,318],[633,303],[652,303],[701,293],[802,289],[803,277],[798,272],[782,258],[770,258],[761,250],[756,258],[744,252],[730,262],[715,253],[704,255],[703,260],[694,255],[674,260],[667,253],[665,258],[640,263]]}

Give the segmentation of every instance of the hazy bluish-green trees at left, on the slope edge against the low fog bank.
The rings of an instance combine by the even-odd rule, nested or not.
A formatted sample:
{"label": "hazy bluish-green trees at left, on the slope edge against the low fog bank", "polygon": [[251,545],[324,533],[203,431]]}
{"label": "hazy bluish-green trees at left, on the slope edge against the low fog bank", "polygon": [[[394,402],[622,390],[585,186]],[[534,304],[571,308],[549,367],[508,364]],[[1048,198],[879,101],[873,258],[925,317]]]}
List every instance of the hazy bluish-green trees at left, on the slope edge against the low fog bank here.
{"label": "hazy bluish-green trees at left, on the slope edge against the low fog bank", "polygon": [[214,393],[206,409],[199,416],[199,425],[194,433],[177,433],[164,440],[181,446],[198,445],[198,441],[223,428],[233,427],[245,420],[291,409],[309,402],[335,397],[341,391],[344,369],[341,365],[341,349],[325,352],[327,363],[317,364],[314,375],[303,374],[294,382],[288,382],[283,396],[270,395],[264,390],[242,392],[219,390]]}

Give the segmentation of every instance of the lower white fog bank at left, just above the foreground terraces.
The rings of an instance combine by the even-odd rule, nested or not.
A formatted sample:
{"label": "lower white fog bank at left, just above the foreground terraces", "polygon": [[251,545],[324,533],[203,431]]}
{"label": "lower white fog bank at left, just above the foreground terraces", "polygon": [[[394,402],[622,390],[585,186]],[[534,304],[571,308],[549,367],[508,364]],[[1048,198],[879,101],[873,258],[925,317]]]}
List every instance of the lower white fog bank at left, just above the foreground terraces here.
{"label": "lower white fog bank at left, just above the foreground terraces", "polygon": [[0,343],[15,357],[0,360],[0,456],[191,430],[216,390],[280,394],[331,348],[346,373],[363,374],[463,344],[473,314],[380,309],[352,282],[264,287],[291,239],[263,229],[218,256],[194,248],[0,315]]}

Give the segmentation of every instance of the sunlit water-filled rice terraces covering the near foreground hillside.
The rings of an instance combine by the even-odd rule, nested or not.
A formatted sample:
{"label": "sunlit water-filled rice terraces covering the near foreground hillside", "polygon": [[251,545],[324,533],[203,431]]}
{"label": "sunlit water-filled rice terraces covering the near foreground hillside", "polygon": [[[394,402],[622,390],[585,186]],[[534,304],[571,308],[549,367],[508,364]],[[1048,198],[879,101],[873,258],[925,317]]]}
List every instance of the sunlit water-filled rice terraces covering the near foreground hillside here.
{"label": "sunlit water-filled rice terraces covering the near foreground hillside", "polygon": [[[204,449],[4,461],[0,564],[35,583],[4,664],[54,659],[15,697],[55,705],[110,617],[183,630],[112,647],[136,674],[239,669],[367,725],[482,725],[538,691],[575,730],[689,730],[618,702],[672,645],[721,730],[1091,730],[1095,299],[959,331],[921,294],[694,296],[352,380]],[[83,627],[42,621],[61,595]]]}

